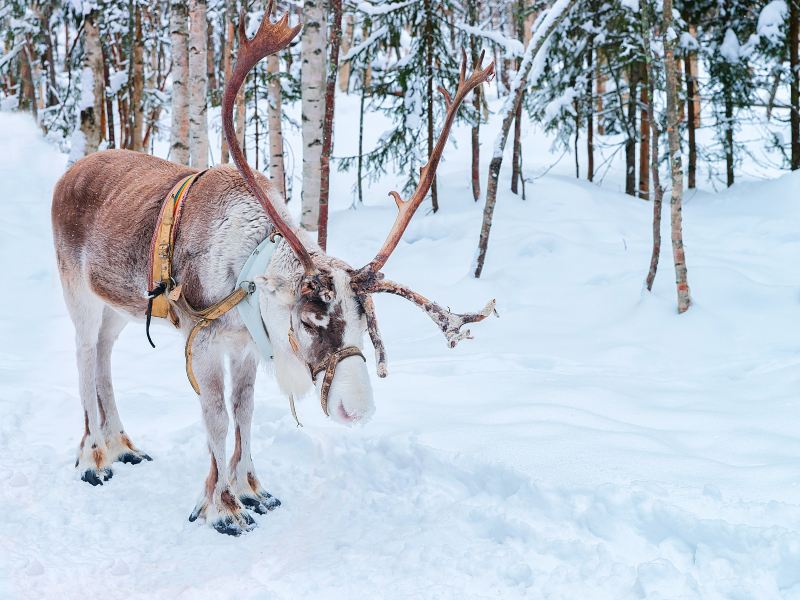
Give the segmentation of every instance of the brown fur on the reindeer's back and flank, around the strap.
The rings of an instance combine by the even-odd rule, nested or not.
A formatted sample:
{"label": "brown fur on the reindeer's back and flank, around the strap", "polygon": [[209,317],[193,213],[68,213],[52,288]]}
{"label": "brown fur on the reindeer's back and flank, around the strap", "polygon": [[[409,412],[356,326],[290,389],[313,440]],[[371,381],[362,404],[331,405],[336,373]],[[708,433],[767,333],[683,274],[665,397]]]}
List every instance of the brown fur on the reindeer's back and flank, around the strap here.
{"label": "brown fur on the reindeer's back and flank, around the strap", "polygon": [[[149,249],[165,196],[181,178],[196,172],[153,156],[128,150],[97,152],[76,162],[53,193],[52,220],[56,254],[62,273],[81,273],[91,290],[106,303],[136,317],[147,308]],[[271,185],[265,178],[260,182]],[[190,304],[202,308],[216,301],[216,289],[206,289],[196,260],[208,252],[212,228],[226,218],[232,198],[250,197],[234,167],[209,169],[192,186],[176,235],[173,275],[183,284]],[[243,256],[263,238],[243,240]],[[215,282],[227,288],[235,281]],[[228,293],[227,289],[225,293]]]}

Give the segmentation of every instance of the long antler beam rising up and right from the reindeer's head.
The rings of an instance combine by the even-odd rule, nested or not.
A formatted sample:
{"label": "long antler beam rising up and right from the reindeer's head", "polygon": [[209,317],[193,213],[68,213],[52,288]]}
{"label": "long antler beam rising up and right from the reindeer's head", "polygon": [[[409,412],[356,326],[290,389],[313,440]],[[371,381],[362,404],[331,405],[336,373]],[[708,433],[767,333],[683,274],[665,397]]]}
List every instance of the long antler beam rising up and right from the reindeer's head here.
{"label": "long antler beam rising up and right from the reindeer's head", "polygon": [[395,203],[397,204],[397,217],[395,218],[394,225],[392,225],[392,229],[389,231],[386,241],[383,243],[383,246],[381,246],[380,250],[378,250],[378,254],[375,255],[375,258],[373,258],[369,264],[359,269],[354,275],[353,281],[357,283],[368,285],[373,279],[375,279],[378,271],[383,268],[383,265],[386,264],[389,256],[392,254],[392,252],[394,252],[394,249],[397,248],[397,244],[400,243],[400,238],[402,237],[406,227],[408,227],[411,217],[414,216],[414,213],[417,211],[420,204],[422,204],[422,201],[425,199],[425,196],[428,194],[428,191],[433,184],[436,168],[439,166],[439,160],[444,152],[447,138],[450,135],[450,128],[452,127],[453,121],[456,118],[456,113],[458,112],[459,106],[461,106],[461,102],[469,92],[474,90],[485,81],[489,81],[494,75],[493,62],[490,63],[485,69],[481,67],[481,62],[483,60],[483,53],[481,53],[481,59],[474,65],[472,74],[465,79],[467,57],[466,53],[463,54],[464,56],[461,63],[459,84],[456,88],[455,95],[451,97],[446,90],[439,88],[444,96],[447,112],[445,114],[444,124],[442,125],[442,131],[439,134],[439,138],[436,140],[436,145],[433,148],[433,152],[431,152],[428,162],[425,163],[425,165],[420,169],[419,184],[417,185],[417,189],[414,191],[414,194],[411,196],[411,198],[405,201],[397,192],[389,192],[389,195],[394,198]]}

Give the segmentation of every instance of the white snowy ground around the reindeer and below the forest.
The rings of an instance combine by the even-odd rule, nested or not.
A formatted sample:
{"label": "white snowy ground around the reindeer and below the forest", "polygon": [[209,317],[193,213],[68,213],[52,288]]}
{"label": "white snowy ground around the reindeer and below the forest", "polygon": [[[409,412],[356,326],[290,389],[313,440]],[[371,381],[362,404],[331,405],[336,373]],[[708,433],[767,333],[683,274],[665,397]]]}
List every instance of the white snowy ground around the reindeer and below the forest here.
{"label": "white snowy ground around the reindeer and below the forest", "polygon": [[[800,598],[800,174],[688,199],[695,304],[679,317],[668,233],[642,290],[649,203],[569,166],[527,202],[501,194],[472,279],[481,207],[457,132],[444,210],[416,218],[387,272],[456,310],[497,298],[501,318],[449,350],[422,313],[377,298],[390,376],[360,429],[314,398],[297,429],[260,376],[253,456],[283,506],[234,539],[187,521],[208,461],[166,327],[153,351],[130,326],[114,359],[126,429],[154,462],[77,479],[49,225],[65,159],[25,117],[0,114],[0,131],[0,598]],[[351,184],[336,175],[336,207]],[[371,257],[389,185],[333,213],[332,253]]]}

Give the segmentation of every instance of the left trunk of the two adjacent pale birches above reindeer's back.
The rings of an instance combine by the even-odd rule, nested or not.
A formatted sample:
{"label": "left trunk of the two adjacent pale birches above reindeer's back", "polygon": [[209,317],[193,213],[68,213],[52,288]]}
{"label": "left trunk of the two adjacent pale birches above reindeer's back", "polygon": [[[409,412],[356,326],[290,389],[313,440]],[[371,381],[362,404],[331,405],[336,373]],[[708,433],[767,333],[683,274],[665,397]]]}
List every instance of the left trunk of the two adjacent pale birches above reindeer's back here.
{"label": "left trunk of the two adjacent pale birches above reindeer's back", "polygon": [[186,0],[171,0],[169,29],[172,43],[171,160],[189,164],[189,11]]}

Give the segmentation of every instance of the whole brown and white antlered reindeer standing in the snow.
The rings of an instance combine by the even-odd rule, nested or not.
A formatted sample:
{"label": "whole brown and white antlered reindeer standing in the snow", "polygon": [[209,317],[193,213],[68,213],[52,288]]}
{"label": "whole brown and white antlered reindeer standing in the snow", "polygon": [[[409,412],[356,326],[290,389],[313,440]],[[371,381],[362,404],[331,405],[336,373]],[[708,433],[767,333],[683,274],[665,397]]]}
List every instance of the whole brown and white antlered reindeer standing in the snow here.
{"label": "whole brown and white antlered reindeer standing in the snow", "polygon": [[[204,323],[208,326],[197,331],[191,345],[211,466],[190,520],[199,518],[230,535],[255,526],[248,509],[266,514],[280,505],[263,487],[250,456],[253,384],[260,360],[272,359],[278,385],[290,398],[316,386],[322,408],[332,419],[365,421],[374,411],[362,354],[365,331],[375,348],[378,375],[387,374],[371,294],[386,292],[410,300],[433,319],[451,347],[470,337],[462,326],[494,310],[492,301],[479,313],[452,313],[381,272],[431,187],[459,105],[493,75],[494,63],[482,68],[481,60],[466,77],[464,57],[455,95],[440,88],[446,118],[419,186],[407,201],[390,193],[398,208],[394,226],[375,258],[354,269],[325,254],[292,222],[276,186],[248,166],[234,132],[234,99],[246,75],[300,31],[299,24],[289,27],[288,15],[273,23],[270,14],[271,3],[253,39],[245,34],[245,15],[239,20],[242,42],[222,102],[224,134],[236,167],[216,166],[196,180],[183,209],[172,260],[172,273],[181,283],[181,301],[173,302],[176,326],[188,337],[197,320],[189,307],[208,306],[229,294],[253,249],[265,238],[275,240],[253,292],[272,357],[259,356],[235,311]],[[145,154],[108,150],[77,161],[54,190],[53,237],[64,299],[75,325],[83,407],[84,431],[75,466],[81,479],[92,485],[111,479],[115,461],[151,460],[128,437],[117,412],[111,350],[125,325],[141,321],[146,313],[148,248],[159,209],[175,183],[193,172]],[[227,464],[226,356],[235,427]],[[149,376],[152,385],[158,385],[157,376]]]}

